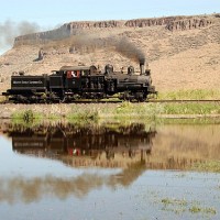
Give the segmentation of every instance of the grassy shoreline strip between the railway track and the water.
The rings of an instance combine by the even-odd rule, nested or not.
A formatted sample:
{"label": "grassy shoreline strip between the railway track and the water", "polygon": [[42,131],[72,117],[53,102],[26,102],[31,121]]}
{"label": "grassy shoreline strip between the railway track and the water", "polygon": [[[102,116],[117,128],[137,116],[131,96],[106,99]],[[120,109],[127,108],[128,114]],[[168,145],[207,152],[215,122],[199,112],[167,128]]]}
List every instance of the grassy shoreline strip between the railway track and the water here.
{"label": "grassy shoreline strip between the railway track and the water", "polygon": [[215,103],[57,103],[1,106],[0,119],[220,119],[220,107]]}

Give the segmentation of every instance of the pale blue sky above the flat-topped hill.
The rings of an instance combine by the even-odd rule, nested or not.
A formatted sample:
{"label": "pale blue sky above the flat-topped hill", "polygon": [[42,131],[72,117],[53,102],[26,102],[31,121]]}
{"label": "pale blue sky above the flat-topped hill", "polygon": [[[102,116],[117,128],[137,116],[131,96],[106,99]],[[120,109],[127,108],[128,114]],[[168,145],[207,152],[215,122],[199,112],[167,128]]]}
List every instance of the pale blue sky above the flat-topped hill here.
{"label": "pale blue sky above the flat-topped hill", "polygon": [[[26,21],[50,30],[70,21],[128,20],[220,12],[220,0],[4,0],[0,26]],[[1,30],[0,30],[1,31]],[[1,31],[1,35],[2,35]],[[0,37],[2,37],[0,35]],[[9,45],[0,43],[0,52]]]}

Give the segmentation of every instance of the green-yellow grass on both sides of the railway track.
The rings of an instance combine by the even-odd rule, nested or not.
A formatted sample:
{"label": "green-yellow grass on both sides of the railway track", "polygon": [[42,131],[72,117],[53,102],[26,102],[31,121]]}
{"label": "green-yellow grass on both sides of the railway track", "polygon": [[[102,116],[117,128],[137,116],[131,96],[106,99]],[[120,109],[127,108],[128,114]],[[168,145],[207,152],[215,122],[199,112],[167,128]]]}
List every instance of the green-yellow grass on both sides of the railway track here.
{"label": "green-yellow grass on both sides of the railway track", "polygon": [[[180,90],[164,92],[158,99],[220,99],[220,91],[216,90]],[[97,121],[99,119],[114,120],[158,120],[167,118],[210,118],[220,114],[220,106],[215,102],[180,102],[180,103],[90,103],[90,105],[15,105],[11,110],[6,105],[1,114],[8,112],[8,118],[13,120],[31,121],[66,119],[69,121]],[[4,107],[2,107],[4,108]]]}

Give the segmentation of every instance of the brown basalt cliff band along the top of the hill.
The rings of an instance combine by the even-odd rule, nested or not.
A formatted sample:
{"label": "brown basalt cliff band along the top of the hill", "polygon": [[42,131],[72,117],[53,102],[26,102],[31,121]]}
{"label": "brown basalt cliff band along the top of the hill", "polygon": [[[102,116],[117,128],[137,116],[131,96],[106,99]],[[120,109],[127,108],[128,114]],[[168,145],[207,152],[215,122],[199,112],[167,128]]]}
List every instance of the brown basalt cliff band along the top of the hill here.
{"label": "brown basalt cliff band along the top of the hill", "polygon": [[184,31],[191,29],[201,29],[212,24],[212,21],[206,16],[167,16],[157,19],[135,19],[128,21],[84,21],[69,22],[58,29],[18,36],[14,40],[14,46],[25,44],[47,43],[48,41],[63,40],[72,35],[76,35],[86,30],[100,29],[130,29],[130,28],[147,28],[164,26],[168,31]]}

